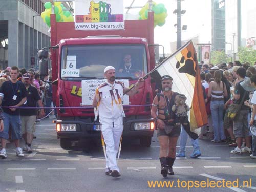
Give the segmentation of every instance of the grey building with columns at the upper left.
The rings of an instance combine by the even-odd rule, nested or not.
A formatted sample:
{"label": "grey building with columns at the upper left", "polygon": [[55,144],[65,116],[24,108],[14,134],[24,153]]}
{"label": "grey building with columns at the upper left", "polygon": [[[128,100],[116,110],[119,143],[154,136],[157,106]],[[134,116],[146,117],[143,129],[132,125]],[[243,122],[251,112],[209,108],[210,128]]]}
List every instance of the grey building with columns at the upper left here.
{"label": "grey building with columns at the upper left", "polygon": [[[29,69],[37,50],[50,46],[49,27],[40,14],[41,0],[0,0],[0,69],[18,66]],[[38,15],[33,17],[34,15]],[[33,36],[34,20],[34,36]],[[34,46],[33,42],[34,41]],[[33,49],[34,47],[34,49]]]}

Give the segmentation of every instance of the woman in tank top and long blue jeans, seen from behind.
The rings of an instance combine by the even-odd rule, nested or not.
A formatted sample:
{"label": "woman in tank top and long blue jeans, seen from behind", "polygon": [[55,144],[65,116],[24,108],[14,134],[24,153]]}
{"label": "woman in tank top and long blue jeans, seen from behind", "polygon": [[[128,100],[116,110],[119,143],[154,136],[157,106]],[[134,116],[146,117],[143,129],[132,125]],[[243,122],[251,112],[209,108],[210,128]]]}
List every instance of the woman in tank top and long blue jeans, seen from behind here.
{"label": "woman in tank top and long blue jeans, seen from behind", "polygon": [[223,109],[224,97],[227,97],[227,89],[224,82],[221,81],[222,72],[217,70],[214,72],[214,81],[210,82],[208,97],[211,97],[210,111],[214,125],[214,139],[211,142],[225,141],[223,129]]}

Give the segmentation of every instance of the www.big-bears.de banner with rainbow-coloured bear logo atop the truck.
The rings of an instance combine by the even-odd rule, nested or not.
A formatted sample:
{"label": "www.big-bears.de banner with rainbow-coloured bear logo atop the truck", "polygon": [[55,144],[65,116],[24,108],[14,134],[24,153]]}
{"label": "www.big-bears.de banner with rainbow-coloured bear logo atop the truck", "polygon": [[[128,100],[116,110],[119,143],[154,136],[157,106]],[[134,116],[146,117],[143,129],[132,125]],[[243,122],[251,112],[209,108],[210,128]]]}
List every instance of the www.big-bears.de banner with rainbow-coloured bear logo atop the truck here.
{"label": "www.big-bears.de banner with rainbow-coloured bear logo atop the truck", "polygon": [[123,0],[75,0],[75,29],[124,29]]}

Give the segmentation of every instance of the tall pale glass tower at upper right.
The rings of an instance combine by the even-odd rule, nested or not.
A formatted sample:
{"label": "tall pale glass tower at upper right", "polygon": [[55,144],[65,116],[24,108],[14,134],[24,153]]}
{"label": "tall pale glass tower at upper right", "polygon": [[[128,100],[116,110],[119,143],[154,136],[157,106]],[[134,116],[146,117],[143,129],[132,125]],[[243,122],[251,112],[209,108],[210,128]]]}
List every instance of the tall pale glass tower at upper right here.
{"label": "tall pale glass tower at upper right", "polygon": [[212,51],[225,50],[225,0],[211,0]]}

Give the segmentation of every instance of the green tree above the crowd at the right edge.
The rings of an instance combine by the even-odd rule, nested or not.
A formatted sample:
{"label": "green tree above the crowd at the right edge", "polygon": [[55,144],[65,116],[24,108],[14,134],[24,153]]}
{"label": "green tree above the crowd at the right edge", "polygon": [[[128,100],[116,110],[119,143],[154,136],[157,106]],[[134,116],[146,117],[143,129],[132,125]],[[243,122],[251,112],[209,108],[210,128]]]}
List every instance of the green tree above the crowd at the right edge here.
{"label": "green tree above the crowd at the right edge", "polygon": [[239,47],[238,48],[238,57],[239,61],[243,64],[249,62],[251,65],[256,61],[256,50],[248,47]]}

